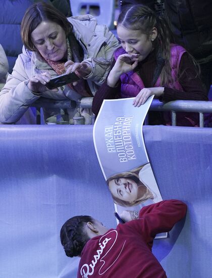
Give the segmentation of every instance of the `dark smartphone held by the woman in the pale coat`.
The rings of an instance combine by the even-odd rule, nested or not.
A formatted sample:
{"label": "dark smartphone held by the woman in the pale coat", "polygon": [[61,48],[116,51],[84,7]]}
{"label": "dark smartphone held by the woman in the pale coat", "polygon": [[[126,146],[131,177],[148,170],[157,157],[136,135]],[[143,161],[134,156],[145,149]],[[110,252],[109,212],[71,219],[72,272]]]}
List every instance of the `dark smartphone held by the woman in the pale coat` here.
{"label": "dark smartphone held by the woman in the pale coat", "polygon": [[76,73],[74,73],[74,72],[71,72],[68,74],[64,73],[64,74],[58,75],[54,78],[51,78],[50,81],[45,84],[45,86],[51,90],[51,89],[55,89],[55,88],[58,88],[60,86],[63,86],[63,85],[69,84],[69,83],[73,83],[79,79],[80,79],[80,77],[78,75],[76,75]]}

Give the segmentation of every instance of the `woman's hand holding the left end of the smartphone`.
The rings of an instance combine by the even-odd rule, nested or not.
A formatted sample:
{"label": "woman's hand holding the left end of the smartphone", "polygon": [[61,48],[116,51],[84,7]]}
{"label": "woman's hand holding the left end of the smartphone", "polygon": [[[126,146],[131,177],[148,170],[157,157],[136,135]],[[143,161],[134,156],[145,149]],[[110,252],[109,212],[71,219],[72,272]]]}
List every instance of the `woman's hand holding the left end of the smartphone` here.
{"label": "woman's hand holding the left end of the smartphone", "polygon": [[29,83],[27,84],[27,87],[37,93],[41,93],[47,90],[47,87],[45,84],[49,82],[51,78],[51,75],[48,72],[43,72],[40,74],[37,74],[29,79]]}

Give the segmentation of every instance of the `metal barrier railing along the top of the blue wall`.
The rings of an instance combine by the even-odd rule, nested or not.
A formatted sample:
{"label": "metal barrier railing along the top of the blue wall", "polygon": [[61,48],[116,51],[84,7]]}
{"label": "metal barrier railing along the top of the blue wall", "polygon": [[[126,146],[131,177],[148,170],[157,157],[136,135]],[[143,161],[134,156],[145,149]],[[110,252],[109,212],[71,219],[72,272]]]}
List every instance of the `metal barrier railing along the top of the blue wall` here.
{"label": "metal barrier railing along the top of the blue wall", "polygon": [[[78,103],[74,101],[64,100],[55,101],[50,99],[40,98],[33,106],[38,109],[41,107],[48,108],[91,108],[93,98],[82,98]],[[204,127],[204,114],[212,113],[212,102],[210,101],[172,101],[168,103],[162,103],[158,100],[153,100],[149,108],[150,111],[170,111],[172,114],[172,125],[176,125],[176,112],[197,112],[199,113],[199,126]],[[38,122],[39,123],[39,118]],[[148,124],[148,117],[145,119],[145,124]]]}

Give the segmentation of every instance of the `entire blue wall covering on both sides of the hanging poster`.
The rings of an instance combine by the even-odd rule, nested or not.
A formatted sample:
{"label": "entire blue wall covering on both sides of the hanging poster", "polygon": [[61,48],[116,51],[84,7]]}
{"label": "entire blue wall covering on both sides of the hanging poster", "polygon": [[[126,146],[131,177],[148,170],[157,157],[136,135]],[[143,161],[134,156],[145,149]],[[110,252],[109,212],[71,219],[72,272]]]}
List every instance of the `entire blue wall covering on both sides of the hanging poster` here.
{"label": "entire blue wall covering on both sides of the hanging poster", "polygon": [[[164,199],[188,205],[185,220],[153,252],[168,277],[211,277],[212,129],[144,126]],[[114,205],[92,141],[92,126],[0,126],[0,277],[72,278],[60,228],[76,214],[115,227]],[[184,225],[184,226],[183,226]]]}

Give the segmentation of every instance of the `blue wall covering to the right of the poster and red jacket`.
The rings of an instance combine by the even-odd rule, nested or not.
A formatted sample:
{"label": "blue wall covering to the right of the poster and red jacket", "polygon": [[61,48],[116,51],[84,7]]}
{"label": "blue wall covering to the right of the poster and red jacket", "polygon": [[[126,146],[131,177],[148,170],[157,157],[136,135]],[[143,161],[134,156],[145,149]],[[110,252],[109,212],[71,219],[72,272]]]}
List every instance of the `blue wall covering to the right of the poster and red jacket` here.
{"label": "blue wall covering to the right of the poster and red jacket", "polygon": [[212,277],[212,128],[146,126],[144,140],[163,199],[188,205],[181,234],[173,229],[153,252],[168,277]]}

